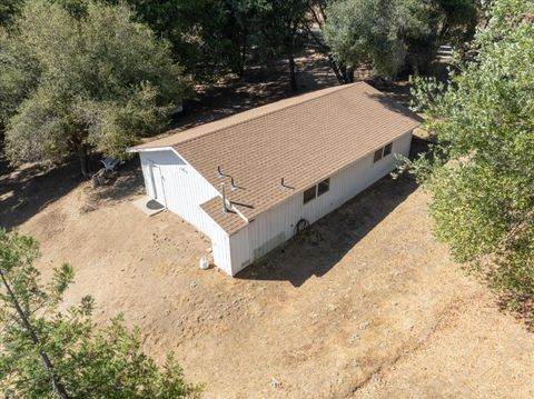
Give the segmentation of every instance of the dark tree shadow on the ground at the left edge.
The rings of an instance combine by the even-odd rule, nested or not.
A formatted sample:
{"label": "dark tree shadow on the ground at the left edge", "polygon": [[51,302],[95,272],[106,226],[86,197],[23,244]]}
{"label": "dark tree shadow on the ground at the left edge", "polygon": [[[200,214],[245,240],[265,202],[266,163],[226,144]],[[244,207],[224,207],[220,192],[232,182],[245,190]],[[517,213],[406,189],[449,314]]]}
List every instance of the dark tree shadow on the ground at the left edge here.
{"label": "dark tree shadow on the ground at the left edge", "polygon": [[16,169],[0,158],[0,228],[23,223],[80,181],[77,162],[52,168],[33,163]]}

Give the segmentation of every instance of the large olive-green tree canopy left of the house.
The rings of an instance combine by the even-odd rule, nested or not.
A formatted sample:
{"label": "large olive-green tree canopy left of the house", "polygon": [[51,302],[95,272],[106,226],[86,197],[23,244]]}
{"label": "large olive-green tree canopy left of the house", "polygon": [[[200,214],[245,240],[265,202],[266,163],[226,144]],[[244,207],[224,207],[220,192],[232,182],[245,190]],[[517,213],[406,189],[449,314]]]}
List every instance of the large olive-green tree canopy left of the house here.
{"label": "large olive-green tree canopy left of the house", "polygon": [[86,172],[89,149],[123,158],[181,103],[187,82],[167,42],[122,3],[76,6],[28,0],[0,33],[0,117],[13,162],[78,153]]}

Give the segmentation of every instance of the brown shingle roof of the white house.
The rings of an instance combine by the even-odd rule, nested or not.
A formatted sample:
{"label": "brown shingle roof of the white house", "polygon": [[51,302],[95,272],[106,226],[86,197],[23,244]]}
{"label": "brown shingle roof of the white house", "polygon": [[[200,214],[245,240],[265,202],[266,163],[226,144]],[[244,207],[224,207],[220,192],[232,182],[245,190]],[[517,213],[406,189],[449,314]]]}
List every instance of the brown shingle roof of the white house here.
{"label": "brown shingle roof of the white house", "polygon": [[[319,90],[241,112],[138,148],[172,147],[248,220],[411,131],[419,118],[359,82]],[[137,149],[137,148],[136,148]],[[234,177],[220,178],[217,167]],[[294,189],[284,189],[285,183]],[[202,208],[229,233],[237,213]]]}

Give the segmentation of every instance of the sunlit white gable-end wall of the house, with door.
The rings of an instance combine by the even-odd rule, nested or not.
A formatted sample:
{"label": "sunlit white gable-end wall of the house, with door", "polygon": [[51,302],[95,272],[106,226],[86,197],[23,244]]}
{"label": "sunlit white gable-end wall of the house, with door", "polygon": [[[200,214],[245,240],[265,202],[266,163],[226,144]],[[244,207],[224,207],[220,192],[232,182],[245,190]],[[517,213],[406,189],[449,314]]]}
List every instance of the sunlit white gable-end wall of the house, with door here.
{"label": "sunlit white gable-end wall of the house, with door", "polygon": [[161,171],[167,208],[188,221],[211,239],[214,262],[231,275],[228,235],[200,208],[219,196],[191,166],[171,150],[139,153],[147,196],[154,198],[150,182],[150,162]]}

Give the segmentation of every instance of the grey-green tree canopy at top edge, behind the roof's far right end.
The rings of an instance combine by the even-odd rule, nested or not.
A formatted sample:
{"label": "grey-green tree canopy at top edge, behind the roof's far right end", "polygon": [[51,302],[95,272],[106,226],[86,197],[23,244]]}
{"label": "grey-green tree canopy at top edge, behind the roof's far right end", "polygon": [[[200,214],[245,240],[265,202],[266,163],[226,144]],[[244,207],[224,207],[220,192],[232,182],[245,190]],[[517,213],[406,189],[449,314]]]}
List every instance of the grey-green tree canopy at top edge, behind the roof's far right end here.
{"label": "grey-green tree canopy at top edge, behind the roof's far right end", "polygon": [[394,77],[425,69],[447,40],[463,41],[477,22],[474,0],[337,0],[327,8],[326,42],[336,60],[370,64]]}

